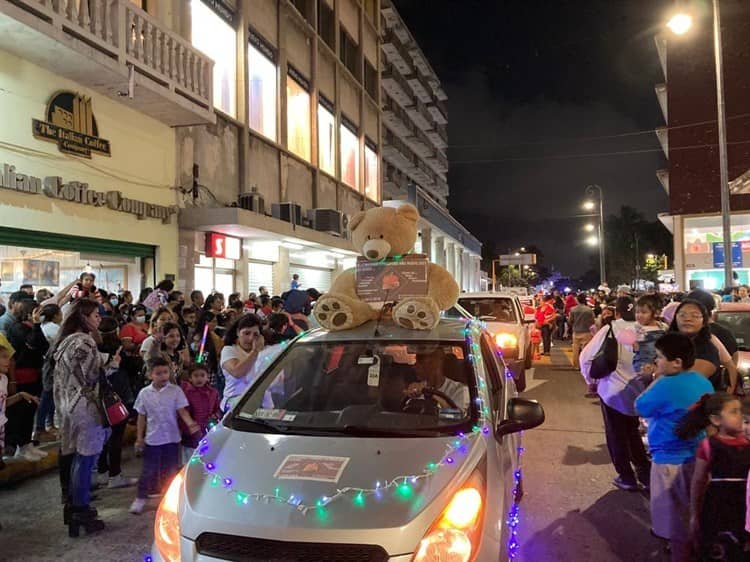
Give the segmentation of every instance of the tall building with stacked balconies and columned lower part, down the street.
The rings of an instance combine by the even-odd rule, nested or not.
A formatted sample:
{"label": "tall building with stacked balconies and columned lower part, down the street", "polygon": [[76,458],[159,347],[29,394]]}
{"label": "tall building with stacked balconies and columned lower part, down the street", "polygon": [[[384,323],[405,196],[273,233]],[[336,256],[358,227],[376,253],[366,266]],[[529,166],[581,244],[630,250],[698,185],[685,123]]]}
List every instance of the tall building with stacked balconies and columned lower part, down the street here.
{"label": "tall building with stacked balconies and columned lower part, down the street", "polygon": [[416,205],[416,251],[478,291],[482,245],[447,209],[448,97],[391,0],[381,14],[383,204]]}

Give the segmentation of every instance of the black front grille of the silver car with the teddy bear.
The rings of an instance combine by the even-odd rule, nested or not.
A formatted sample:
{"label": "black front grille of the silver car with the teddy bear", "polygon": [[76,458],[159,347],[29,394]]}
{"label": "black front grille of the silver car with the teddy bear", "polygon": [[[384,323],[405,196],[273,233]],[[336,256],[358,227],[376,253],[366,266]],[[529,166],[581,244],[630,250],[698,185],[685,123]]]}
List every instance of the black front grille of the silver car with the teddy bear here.
{"label": "black front grille of the silver car with the teddy bear", "polygon": [[196,541],[204,556],[237,562],[387,562],[375,545],[286,542],[203,533]]}

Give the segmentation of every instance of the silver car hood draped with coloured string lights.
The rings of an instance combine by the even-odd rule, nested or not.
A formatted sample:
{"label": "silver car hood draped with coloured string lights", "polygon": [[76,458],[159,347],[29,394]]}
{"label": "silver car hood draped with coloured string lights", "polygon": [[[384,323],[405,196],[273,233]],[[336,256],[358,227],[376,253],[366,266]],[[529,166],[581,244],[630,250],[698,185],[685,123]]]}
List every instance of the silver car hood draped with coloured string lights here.
{"label": "silver car hood draped with coloured string lights", "polygon": [[[481,432],[465,441],[457,437],[310,437],[248,433],[219,425],[207,437],[202,457],[187,465],[181,532],[191,539],[213,531],[313,541],[324,540],[321,533],[331,533],[332,541],[372,542],[376,538],[372,533],[377,535],[378,530],[404,532],[410,522],[420,519],[417,526],[423,533],[485,454],[485,438]],[[456,444],[465,446],[447,453]],[[450,454],[450,464],[411,481],[410,477],[423,474],[429,463],[440,462],[446,454]],[[288,455],[340,457],[347,463],[337,482],[277,478]],[[409,487],[399,490],[391,485],[355,501],[357,490],[394,480]],[[326,507],[315,507],[346,488],[354,490]],[[276,494],[289,501],[274,499]],[[297,501],[302,504],[295,506]],[[313,507],[305,511],[304,506]],[[368,534],[357,541],[356,531],[364,530]],[[420,539],[421,534],[416,543]],[[392,536],[379,542],[386,543],[394,550],[404,548],[395,546]],[[411,536],[406,543],[416,544]]]}

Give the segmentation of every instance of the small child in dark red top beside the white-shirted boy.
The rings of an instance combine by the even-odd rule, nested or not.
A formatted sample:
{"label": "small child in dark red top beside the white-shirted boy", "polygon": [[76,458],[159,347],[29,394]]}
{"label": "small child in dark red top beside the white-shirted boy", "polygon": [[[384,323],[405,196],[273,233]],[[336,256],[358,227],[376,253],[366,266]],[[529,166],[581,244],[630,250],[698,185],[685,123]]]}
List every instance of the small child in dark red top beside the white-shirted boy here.
{"label": "small child in dark red top beside the white-shirted boy", "polygon": [[196,364],[190,368],[188,380],[182,383],[182,390],[188,401],[188,413],[200,427],[200,433],[190,433],[184,424],[182,430],[182,462],[188,461],[198,441],[208,431],[211,421],[218,421],[221,417],[219,408],[219,392],[208,384],[208,370],[205,365]]}

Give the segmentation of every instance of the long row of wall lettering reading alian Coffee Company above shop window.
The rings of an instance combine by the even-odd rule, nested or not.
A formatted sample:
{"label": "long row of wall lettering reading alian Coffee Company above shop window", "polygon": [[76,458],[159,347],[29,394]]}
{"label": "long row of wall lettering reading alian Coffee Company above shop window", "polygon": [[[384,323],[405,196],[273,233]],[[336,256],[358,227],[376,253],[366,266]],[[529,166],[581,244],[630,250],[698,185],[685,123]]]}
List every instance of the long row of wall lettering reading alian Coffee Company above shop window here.
{"label": "long row of wall lettering reading alian Coffee Company above shop window", "polygon": [[155,205],[123,196],[121,191],[97,191],[89,184],[79,181],[63,182],[60,176],[38,178],[16,172],[16,167],[3,164],[0,173],[0,188],[32,195],[44,194],[51,199],[60,199],[92,207],[107,207],[113,211],[135,215],[139,219],[161,219],[169,224],[177,214],[176,205]]}

